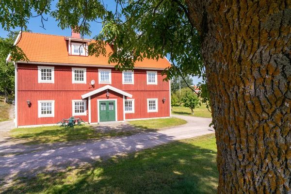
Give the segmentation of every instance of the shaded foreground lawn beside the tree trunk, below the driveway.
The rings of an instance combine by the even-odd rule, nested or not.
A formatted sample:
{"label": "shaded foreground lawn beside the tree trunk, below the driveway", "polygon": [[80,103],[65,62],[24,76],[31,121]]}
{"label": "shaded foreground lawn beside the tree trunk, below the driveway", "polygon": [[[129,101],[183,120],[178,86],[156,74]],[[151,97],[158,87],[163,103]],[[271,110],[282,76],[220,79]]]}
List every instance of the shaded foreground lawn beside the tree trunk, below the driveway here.
{"label": "shaded foreground lawn beside the tree trunk, below the driveway", "polygon": [[[214,135],[173,142],[63,172],[15,178],[3,194],[216,194]],[[2,182],[4,185],[4,182]]]}

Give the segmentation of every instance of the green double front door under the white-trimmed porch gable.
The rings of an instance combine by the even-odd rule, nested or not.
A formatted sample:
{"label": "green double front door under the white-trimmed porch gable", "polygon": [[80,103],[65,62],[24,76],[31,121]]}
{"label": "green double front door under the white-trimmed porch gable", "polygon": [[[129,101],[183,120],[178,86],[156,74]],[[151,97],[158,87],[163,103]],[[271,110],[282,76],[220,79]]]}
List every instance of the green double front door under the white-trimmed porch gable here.
{"label": "green double front door under the white-trimmed porch gable", "polygon": [[100,122],[115,121],[115,101],[99,101]]}

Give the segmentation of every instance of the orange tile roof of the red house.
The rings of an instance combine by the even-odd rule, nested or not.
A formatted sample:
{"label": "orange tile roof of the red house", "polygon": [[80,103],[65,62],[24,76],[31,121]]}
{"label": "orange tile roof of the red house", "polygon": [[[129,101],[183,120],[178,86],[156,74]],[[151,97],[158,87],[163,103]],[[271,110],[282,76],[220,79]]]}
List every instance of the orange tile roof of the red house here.
{"label": "orange tile roof of the red house", "polygon": [[[91,42],[94,42],[92,40]],[[90,44],[90,43],[89,43]],[[22,32],[22,37],[17,44],[26,54],[30,62],[56,63],[56,64],[80,64],[80,65],[116,65],[108,63],[108,56],[73,56],[68,55],[65,36]],[[107,54],[112,52],[109,45],[106,46]],[[166,58],[159,61],[145,59],[136,62],[135,67],[142,68],[166,68],[170,63]]]}

